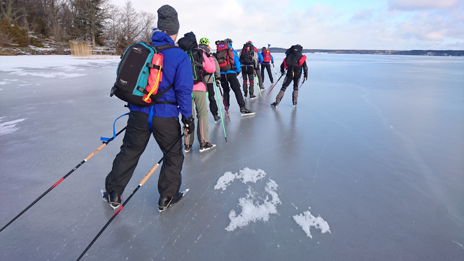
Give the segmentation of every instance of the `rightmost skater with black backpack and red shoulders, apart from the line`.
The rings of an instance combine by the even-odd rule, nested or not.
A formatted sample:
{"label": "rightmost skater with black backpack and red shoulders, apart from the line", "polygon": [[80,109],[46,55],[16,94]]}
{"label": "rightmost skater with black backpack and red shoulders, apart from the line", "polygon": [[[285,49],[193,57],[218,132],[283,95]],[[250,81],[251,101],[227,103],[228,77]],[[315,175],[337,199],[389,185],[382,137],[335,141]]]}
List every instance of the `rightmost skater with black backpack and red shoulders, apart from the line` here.
{"label": "rightmost skater with black backpack and red shoulders, apart from the line", "polygon": [[293,106],[296,106],[298,98],[298,84],[300,83],[300,78],[302,72],[304,72],[304,80],[308,78],[308,66],[306,66],[306,55],[302,54],[303,47],[300,45],[291,46],[285,52],[285,59],[280,65],[280,73],[285,75],[285,69],[287,70],[287,75],[284,78],[284,84],[280,88],[279,93],[277,93],[276,101],[271,103],[271,106],[277,108],[280,101],[284,97],[285,89],[293,81],[293,92],[292,92],[292,101]]}

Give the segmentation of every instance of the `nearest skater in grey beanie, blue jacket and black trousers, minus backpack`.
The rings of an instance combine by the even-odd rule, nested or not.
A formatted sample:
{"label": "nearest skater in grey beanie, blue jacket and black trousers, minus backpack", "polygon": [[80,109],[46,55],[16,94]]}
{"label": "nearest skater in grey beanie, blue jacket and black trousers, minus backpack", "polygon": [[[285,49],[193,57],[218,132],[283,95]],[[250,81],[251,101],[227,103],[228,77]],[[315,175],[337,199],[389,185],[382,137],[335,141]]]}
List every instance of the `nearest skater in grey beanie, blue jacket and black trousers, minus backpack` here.
{"label": "nearest skater in grey beanie, blue jacket and black trousers, minus backpack", "polygon": [[[155,32],[151,40],[155,46],[174,45],[179,32],[179,20],[173,7],[164,5],[158,9],[158,28],[153,30]],[[181,136],[179,113],[182,115],[182,122],[188,134],[193,133],[195,128],[192,117],[192,65],[187,54],[179,48],[166,49],[161,53],[164,57],[164,72],[158,91],[162,92],[168,88],[169,90],[156,101],[153,107],[129,104],[129,119],[121,151],[116,155],[113,168],[106,177],[106,191],[103,193],[103,199],[113,209],[121,205],[122,192],[147,147],[150,135],[155,137],[162,153],[166,154]],[[149,128],[149,115],[152,113],[152,124]],[[182,144],[177,143],[166,155],[161,166],[158,179],[160,193],[158,209],[164,210],[182,198],[183,193],[179,192],[179,189],[183,162]]]}

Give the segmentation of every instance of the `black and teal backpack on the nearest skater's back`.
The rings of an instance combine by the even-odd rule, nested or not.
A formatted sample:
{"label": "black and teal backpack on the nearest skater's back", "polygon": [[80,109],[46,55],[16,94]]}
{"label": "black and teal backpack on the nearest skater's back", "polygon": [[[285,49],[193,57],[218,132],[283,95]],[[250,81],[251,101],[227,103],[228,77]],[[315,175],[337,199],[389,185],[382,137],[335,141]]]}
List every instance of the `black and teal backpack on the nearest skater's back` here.
{"label": "black and teal backpack on the nearest skater's back", "polygon": [[150,96],[151,102],[147,103],[142,97],[148,92],[145,87],[148,85],[149,69],[155,68],[163,71],[160,66],[153,65],[152,59],[155,53],[169,48],[178,48],[174,45],[155,46],[153,43],[140,42],[127,47],[121,55],[121,61],[116,71],[116,82],[111,88],[110,97],[116,95],[117,98],[139,107],[148,107],[156,103],[161,96],[169,91],[173,85]]}

